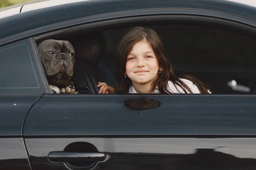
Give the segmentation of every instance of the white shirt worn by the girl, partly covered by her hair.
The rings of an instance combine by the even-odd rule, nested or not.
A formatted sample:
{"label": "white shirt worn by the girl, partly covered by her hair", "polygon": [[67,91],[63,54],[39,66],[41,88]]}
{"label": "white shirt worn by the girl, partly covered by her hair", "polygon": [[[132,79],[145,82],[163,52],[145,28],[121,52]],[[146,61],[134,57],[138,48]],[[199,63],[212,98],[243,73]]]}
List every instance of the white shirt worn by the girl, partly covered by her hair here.
{"label": "white shirt worn by the girl, partly covered by her hair", "polygon": [[[198,87],[190,80],[187,80],[187,79],[180,79],[181,81],[183,81],[189,88],[190,90],[193,92],[193,94],[200,94],[200,91],[198,89]],[[180,86],[176,85],[177,86],[177,90],[175,88],[175,85],[173,84],[172,81],[168,81],[168,90],[172,93],[185,93],[182,88],[180,88]],[[129,93],[137,93],[137,91],[135,90],[134,86],[131,84],[130,88],[129,88]],[[160,91],[156,88],[153,93],[160,93]],[[189,91],[187,91],[187,93],[189,93]]]}

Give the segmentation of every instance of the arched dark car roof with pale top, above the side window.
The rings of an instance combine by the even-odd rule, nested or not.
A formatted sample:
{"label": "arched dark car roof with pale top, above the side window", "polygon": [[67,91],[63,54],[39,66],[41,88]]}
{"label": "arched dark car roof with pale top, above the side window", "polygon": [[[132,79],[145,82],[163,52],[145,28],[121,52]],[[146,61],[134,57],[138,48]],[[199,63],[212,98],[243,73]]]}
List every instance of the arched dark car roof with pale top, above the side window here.
{"label": "arched dark car roof with pale top, above the side window", "polygon": [[6,37],[37,28],[121,11],[159,8],[199,9],[233,14],[256,21],[256,4],[251,0],[73,0],[72,3],[69,1],[44,0],[29,3],[23,5],[20,13],[0,18],[0,45]]}

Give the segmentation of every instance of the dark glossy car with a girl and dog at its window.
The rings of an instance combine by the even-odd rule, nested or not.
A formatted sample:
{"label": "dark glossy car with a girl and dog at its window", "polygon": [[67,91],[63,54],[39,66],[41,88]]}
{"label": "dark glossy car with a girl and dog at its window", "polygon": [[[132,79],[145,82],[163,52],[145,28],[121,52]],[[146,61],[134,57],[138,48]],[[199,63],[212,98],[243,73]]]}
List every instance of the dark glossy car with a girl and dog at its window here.
{"label": "dark glossy car with a girl and dog at its window", "polygon": [[[252,1],[54,2],[0,19],[0,170],[256,169]],[[116,86],[134,26],[154,29],[175,72],[212,94],[98,94],[96,82]],[[73,44],[79,94],[49,88],[38,56],[48,39]]]}

